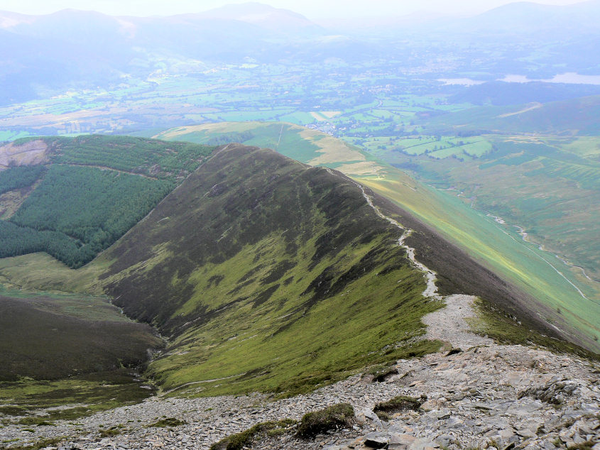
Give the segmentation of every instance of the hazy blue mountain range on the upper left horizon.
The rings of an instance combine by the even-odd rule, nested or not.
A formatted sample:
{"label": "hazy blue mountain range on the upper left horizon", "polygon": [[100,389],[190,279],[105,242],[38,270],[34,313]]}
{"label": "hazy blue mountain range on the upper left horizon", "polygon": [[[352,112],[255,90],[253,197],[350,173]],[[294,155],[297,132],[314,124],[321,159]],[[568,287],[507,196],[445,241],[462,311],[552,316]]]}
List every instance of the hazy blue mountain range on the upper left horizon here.
{"label": "hazy blue mountain range on the upper left horizon", "polygon": [[[311,46],[300,41],[324,34],[299,14],[261,4],[151,18],[73,9],[43,16],[0,11],[0,105],[53,89],[108,87],[124,74],[145,78],[162,67],[160,60],[173,57],[218,62],[302,58],[311,55],[306,52]],[[315,46],[328,48],[319,41]]]}

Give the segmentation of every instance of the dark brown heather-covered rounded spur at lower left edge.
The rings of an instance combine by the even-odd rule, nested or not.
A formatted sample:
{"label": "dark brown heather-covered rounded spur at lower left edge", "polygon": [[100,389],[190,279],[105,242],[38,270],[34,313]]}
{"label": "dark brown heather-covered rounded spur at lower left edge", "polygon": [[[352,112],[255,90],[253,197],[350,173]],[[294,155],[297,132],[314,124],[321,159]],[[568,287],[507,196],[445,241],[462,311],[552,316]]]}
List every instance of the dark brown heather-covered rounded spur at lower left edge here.
{"label": "dark brown heather-covered rounded spur at lower left edge", "polygon": [[160,346],[105,299],[0,295],[0,382],[57,380],[140,366]]}

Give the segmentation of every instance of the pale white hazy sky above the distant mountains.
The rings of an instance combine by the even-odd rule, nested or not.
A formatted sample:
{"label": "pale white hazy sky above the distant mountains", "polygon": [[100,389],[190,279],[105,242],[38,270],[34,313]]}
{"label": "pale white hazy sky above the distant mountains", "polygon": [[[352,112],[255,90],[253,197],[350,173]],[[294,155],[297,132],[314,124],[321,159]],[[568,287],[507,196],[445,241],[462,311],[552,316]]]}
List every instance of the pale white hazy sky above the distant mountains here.
{"label": "pale white hazy sky above the distant mountains", "polygon": [[[581,0],[538,0],[542,4],[574,4]],[[0,10],[27,14],[44,14],[60,9],[85,9],[111,15],[168,16],[195,13],[224,4],[244,3],[236,0],[0,0]],[[291,9],[310,19],[361,18],[365,16],[402,16],[415,11],[438,13],[479,13],[510,0],[266,0],[278,8]]]}

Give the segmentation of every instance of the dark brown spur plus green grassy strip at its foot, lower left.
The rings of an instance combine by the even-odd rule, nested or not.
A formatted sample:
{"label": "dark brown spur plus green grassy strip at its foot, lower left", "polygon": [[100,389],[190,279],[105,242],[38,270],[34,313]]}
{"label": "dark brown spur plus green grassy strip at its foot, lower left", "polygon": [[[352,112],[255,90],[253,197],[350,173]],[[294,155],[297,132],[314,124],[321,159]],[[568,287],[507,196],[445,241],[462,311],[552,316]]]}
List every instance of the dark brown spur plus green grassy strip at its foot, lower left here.
{"label": "dark brown spur plus green grassy strip at its foot, lower left", "polygon": [[[7,289],[1,294],[1,413],[28,416],[18,419],[21,424],[50,426],[154,393],[136,371],[160,339],[106,298]],[[31,417],[43,410],[47,414]]]}

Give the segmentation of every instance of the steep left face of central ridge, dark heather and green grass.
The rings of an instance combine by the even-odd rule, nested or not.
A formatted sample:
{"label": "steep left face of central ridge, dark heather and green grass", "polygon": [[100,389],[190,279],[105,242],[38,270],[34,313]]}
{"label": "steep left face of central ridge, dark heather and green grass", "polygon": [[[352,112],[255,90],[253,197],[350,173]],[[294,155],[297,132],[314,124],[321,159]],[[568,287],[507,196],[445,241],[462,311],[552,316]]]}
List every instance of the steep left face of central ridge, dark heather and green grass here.
{"label": "steep left face of central ridge, dark heather and green grass", "polygon": [[437,348],[413,340],[440,304],[399,232],[350,180],[232,147],[99,258],[115,261],[101,278],[170,336],[150,366],[165,390],[295,393]]}

